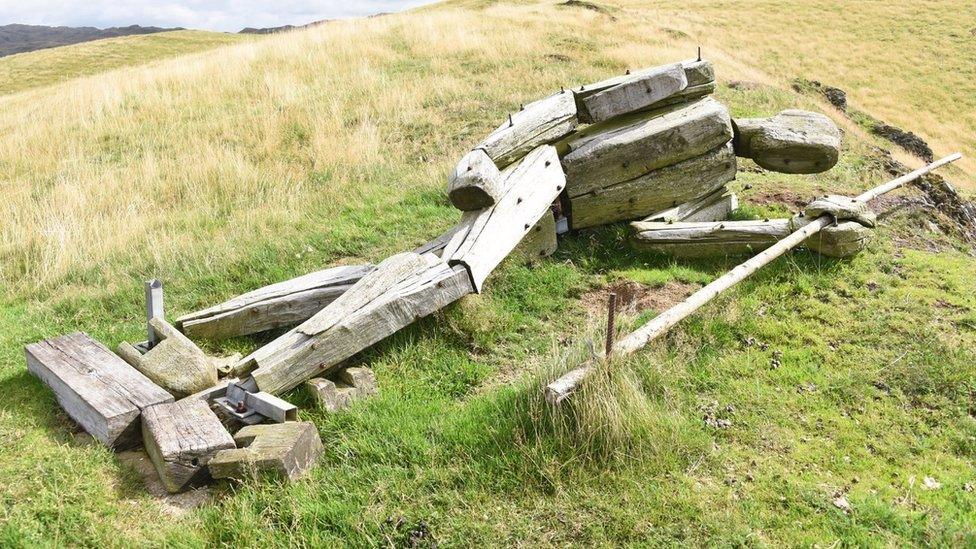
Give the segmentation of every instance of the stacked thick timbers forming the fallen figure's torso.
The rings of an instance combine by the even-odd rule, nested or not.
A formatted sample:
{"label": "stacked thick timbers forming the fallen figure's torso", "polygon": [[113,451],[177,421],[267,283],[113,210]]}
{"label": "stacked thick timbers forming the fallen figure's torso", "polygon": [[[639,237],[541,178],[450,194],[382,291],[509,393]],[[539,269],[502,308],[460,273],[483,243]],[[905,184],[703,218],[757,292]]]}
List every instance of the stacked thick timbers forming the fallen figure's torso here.
{"label": "stacked thick timbers forming the fallen figure's torso", "polygon": [[[668,78],[675,72],[681,78]],[[654,101],[614,96],[628,87]],[[661,97],[656,89],[670,93]],[[638,219],[722,196],[735,179],[736,162],[728,109],[708,97],[714,89],[711,64],[687,61],[575,91],[581,119],[595,123],[559,145],[572,227]]]}

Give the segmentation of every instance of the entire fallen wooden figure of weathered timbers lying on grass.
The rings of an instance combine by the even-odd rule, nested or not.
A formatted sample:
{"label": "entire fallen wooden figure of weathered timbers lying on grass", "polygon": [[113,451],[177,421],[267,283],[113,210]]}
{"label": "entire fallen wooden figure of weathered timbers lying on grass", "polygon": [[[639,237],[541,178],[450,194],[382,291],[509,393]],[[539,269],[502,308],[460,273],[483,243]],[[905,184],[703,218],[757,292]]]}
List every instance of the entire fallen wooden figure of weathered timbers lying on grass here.
{"label": "entire fallen wooden figure of weathered timbers lying on grass", "polygon": [[[314,426],[295,421],[296,408],[276,395],[306,384],[319,406],[340,413],[375,393],[372,374],[345,361],[483,291],[506,258],[553,253],[557,233],[643,220],[635,241],[659,249],[691,242],[698,251],[716,234],[762,233],[742,237],[748,250],[769,246],[757,258],[803,240],[814,247],[808,239],[815,233],[833,234],[838,253],[863,245],[867,213],[833,199],[812,204],[804,219],[724,221],[736,209],[728,184],[737,158],[786,173],[822,172],[837,161],[840,132],[827,117],[804,111],[736,120],[710,97],[714,91],[714,70],[700,56],[560,89],[520,106],[461,157],[446,189],[460,220],[427,244],[377,265],[337,266],[259,288],[173,326],[163,314],[162,287],[152,281],[148,340],[120,346],[125,360],[75,334],[28,346],[30,371],[104,444],[144,441],[172,491],[260,470],[293,479],[322,445]],[[827,228],[835,219],[843,223]],[[758,268],[750,265],[736,276]],[[694,303],[714,297],[715,283],[706,288],[698,301],[649,326],[677,322],[700,306]],[[193,342],[270,330],[283,333],[231,365]],[[654,337],[648,330],[621,341],[620,352]],[[564,381],[557,400],[578,379]],[[264,422],[274,424],[257,425]]]}

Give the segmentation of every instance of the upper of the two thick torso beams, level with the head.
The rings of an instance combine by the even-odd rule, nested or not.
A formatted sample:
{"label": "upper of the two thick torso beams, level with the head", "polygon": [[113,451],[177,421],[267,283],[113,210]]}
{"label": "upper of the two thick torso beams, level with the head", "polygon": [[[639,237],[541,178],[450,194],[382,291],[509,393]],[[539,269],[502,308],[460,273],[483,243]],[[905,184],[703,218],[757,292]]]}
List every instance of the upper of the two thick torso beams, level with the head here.
{"label": "upper of the two thick torso beams, level with the head", "polygon": [[732,138],[732,125],[728,110],[706,98],[595,124],[580,133],[563,157],[570,197],[705,154]]}

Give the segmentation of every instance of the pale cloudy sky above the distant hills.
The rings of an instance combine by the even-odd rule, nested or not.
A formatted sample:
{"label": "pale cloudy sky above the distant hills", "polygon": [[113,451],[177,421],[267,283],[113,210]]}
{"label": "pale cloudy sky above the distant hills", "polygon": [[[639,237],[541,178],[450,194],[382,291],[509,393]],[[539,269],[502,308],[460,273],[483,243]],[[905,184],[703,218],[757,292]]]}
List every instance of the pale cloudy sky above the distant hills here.
{"label": "pale cloudy sky above the distant hills", "polygon": [[237,32],[400,11],[430,0],[0,0],[0,25],[143,25]]}

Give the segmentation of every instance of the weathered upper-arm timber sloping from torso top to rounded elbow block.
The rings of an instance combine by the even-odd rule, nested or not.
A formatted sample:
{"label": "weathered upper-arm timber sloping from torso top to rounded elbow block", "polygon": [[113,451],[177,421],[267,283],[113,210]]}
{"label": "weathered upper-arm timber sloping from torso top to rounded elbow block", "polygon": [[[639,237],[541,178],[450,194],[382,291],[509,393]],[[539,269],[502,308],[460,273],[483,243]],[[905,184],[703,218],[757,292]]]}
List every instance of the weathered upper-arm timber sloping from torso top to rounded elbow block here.
{"label": "weathered upper-arm timber sloping from torso top to rounded elbow block", "polygon": [[563,91],[525,105],[476,148],[483,149],[495,165],[503,168],[539,145],[569,135],[577,123],[573,94]]}

